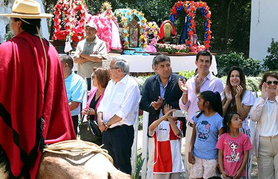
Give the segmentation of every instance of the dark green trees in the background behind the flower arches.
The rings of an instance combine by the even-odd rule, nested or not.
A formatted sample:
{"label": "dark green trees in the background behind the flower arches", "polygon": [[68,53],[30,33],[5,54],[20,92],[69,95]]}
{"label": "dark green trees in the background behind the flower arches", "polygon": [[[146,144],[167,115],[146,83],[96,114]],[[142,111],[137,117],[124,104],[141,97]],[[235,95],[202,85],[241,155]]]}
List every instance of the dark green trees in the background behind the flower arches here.
{"label": "dark green trees in the background behind the flower arches", "polygon": [[[6,1],[6,0],[5,0]],[[88,12],[98,14],[106,0],[85,0]],[[147,21],[158,25],[169,19],[170,9],[175,1],[170,0],[109,0],[113,10],[117,8],[136,8],[144,13]],[[195,0],[198,1],[198,0]],[[44,0],[47,13],[53,13],[57,0]],[[206,0],[211,11],[211,48],[217,52],[243,52],[248,56],[251,23],[251,0]],[[196,32],[200,42],[204,40],[204,24],[201,12],[197,11]],[[185,20],[185,13],[179,14],[175,27],[179,35]]]}

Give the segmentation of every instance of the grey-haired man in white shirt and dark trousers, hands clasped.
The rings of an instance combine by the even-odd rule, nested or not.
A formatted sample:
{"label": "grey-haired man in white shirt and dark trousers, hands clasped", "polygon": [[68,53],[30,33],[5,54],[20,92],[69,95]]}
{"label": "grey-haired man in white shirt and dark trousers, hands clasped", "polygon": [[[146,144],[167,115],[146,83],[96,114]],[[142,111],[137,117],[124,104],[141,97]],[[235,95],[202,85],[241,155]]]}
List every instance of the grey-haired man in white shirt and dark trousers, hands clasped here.
{"label": "grey-haired man in white shirt and dark trousers, hands clasped", "polygon": [[131,174],[131,147],[134,139],[133,125],[139,109],[140,90],[134,78],[129,76],[130,64],[122,58],[110,63],[110,78],[99,104],[98,125],[103,148],[108,150],[114,166]]}

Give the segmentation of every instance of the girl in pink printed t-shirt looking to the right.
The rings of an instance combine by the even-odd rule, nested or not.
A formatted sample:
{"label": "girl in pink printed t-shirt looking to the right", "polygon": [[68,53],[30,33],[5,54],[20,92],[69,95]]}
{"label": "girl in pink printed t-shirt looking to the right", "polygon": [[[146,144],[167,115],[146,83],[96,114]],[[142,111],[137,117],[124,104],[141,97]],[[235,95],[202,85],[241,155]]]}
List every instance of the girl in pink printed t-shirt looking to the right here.
{"label": "girl in pink printed t-shirt looking to the right", "polygon": [[239,131],[242,127],[239,114],[227,114],[224,124],[227,132],[220,135],[216,144],[220,171],[225,179],[245,178],[245,165],[252,149],[250,138]]}

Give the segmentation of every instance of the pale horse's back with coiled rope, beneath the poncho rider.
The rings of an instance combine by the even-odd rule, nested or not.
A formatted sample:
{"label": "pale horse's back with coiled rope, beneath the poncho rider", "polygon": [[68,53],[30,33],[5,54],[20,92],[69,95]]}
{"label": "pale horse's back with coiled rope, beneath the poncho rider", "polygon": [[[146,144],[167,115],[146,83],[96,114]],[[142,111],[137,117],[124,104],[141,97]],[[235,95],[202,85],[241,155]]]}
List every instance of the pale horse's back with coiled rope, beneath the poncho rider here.
{"label": "pale horse's back with coiled rope, beneath the poncho rider", "polygon": [[[76,143],[81,146],[76,147]],[[89,143],[70,140],[48,146],[44,149],[37,179],[131,179],[113,166],[106,150]],[[65,144],[64,148],[71,148],[70,151],[64,150]],[[5,165],[0,164],[0,179],[8,178]]]}

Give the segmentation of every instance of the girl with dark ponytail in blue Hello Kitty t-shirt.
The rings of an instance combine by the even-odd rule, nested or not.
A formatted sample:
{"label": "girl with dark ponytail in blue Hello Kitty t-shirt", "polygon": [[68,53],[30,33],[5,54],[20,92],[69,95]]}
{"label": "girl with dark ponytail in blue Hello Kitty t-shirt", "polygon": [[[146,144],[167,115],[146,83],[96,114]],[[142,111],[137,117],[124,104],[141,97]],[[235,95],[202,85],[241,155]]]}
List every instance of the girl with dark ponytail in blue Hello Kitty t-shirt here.
{"label": "girl with dark ponytail in blue Hello Kitty t-shirt", "polygon": [[218,135],[224,132],[222,102],[218,92],[204,91],[198,95],[200,112],[193,116],[193,133],[188,162],[192,164],[190,177],[208,179],[216,175]]}

